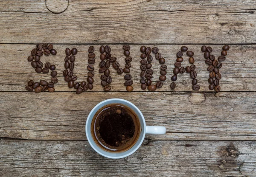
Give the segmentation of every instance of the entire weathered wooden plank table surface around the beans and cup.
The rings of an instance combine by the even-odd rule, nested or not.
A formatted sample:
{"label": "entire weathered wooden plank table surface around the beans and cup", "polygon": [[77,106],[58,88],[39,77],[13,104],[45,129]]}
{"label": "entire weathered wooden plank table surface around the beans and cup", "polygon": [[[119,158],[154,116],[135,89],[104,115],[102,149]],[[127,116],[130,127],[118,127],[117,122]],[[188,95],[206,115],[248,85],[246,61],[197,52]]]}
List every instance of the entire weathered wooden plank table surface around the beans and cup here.
{"label": "entire weathered wooden plank table surface around the beans and cup", "polygon": [[[3,0],[0,3],[0,176],[256,176],[256,3],[255,0]],[[27,61],[37,43],[52,43],[43,56],[58,71],[54,93],[30,93],[27,81],[49,80]],[[134,91],[111,67],[111,92],[100,74],[93,90],[77,95],[64,81],[65,48],[78,49],[74,72],[86,79],[88,47],[110,45],[124,66],[122,45],[131,46]],[[230,45],[220,72],[221,92],[208,89],[201,46],[219,56]],[[154,92],[140,89],[140,46],[158,47],[167,79]],[[184,73],[171,90],[180,47],[195,52],[200,90]],[[184,57],[184,65],[189,65]],[[154,60],[156,81],[159,64]],[[146,135],[133,155],[110,160],[85,136],[90,110],[108,98],[134,103],[147,125],[166,126],[166,135]]]}

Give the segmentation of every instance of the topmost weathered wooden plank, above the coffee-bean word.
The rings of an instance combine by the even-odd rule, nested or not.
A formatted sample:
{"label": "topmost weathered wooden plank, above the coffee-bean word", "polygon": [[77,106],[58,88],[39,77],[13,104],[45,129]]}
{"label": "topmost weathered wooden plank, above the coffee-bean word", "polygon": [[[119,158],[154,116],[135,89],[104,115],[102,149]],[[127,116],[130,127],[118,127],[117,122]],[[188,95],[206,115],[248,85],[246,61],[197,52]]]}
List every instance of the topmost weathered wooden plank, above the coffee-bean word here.
{"label": "topmost weathered wooden plank, above the coffee-bean word", "polygon": [[44,0],[6,0],[0,43],[253,43],[255,9],[253,0],[69,0],[52,14]]}

